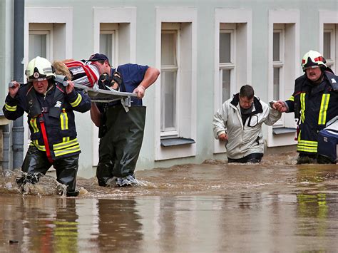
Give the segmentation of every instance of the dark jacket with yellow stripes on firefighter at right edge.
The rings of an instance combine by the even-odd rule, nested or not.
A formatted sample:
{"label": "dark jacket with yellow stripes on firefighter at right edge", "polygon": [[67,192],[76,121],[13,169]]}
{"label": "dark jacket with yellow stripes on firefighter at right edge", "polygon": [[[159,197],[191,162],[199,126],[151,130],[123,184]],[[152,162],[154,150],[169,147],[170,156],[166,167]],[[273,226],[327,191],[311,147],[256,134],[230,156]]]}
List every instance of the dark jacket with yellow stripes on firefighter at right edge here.
{"label": "dark jacket with yellow stripes on firefighter at right edge", "polygon": [[306,74],[295,81],[295,92],[286,101],[289,112],[299,119],[297,152],[316,154],[317,136],[327,121],[338,115],[338,76],[324,71],[319,85],[312,84]]}

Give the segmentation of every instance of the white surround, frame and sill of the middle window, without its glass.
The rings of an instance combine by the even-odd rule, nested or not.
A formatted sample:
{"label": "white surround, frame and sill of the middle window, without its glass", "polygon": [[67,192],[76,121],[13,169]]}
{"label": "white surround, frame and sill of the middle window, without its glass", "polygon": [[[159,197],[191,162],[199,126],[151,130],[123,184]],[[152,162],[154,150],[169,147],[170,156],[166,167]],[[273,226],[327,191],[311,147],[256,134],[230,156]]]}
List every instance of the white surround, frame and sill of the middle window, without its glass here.
{"label": "white surround, frame and sill of the middle window, without its glass", "polygon": [[[161,135],[161,78],[155,86],[154,149],[155,161],[187,158],[196,155],[196,91],[197,91],[197,9],[190,7],[156,7],[155,67],[161,69],[162,30],[180,24],[178,39],[178,137]],[[165,24],[165,26],[163,26]],[[168,26],[167,26],[168,25]],[[175,28],[176,29],[176,28]],[[177,141],[175,141],[177,140]],[[196,141],[195,141],[196,140]],[[168,141],[172,141],[168,145]]]}

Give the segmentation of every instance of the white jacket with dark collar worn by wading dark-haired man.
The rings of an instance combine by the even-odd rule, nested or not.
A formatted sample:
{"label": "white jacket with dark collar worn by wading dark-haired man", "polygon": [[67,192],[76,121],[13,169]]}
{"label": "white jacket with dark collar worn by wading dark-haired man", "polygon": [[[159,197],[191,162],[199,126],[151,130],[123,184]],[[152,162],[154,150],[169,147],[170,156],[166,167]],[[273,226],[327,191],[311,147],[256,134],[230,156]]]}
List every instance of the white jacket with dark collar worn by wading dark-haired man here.
{"label": "white jacket with dark collar worn by wading dark-haired man", "polygon": [[254,97],[252,112],[242,123],[239,93],[225,101],[213,118],[215,138],[227,133],[227,157],[244,158],[252,153],[264,153],[262,123],[273,125],[280,119],[281,113]]}

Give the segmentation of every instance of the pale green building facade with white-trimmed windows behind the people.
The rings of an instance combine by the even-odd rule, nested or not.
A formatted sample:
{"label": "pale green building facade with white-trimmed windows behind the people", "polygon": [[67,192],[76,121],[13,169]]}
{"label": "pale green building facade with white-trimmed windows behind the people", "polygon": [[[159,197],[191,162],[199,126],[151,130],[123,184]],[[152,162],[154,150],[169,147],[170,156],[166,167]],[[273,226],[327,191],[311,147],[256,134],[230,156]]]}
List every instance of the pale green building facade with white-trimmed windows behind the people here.
{"label": "pale green building facade with white-trimmed windows behind the people", "polygon": [[[0,100],[13,66],[14,1],[0,0]],[[292,95],[300,61],[320,51],[338,73],[336,0],[25,1],[24,68],[36,56],[51,62],[105,53],[113,66],[160,69],[145,92],[143,148],[137,170],[224,159],[212,115],[244,84],[264,101]],[[78,175],[98,162],[98,129],[76,114],[81,145]],[[24,120],[26,127],[26,122]],[[268,148],[295,145],[292,113],[264,127]],[[24,150],[29,144],[24,132]]]}

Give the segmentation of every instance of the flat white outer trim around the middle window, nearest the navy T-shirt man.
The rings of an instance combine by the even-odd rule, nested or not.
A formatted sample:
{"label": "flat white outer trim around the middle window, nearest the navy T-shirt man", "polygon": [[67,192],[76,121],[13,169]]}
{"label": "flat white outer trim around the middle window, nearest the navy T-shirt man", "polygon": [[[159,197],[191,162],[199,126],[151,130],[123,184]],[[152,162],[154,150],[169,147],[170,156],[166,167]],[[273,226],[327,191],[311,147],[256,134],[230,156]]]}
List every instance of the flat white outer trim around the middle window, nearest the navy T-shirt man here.
{"label": "flat white outer trim around the middle window, nearest the navy T-shirt man", "polygon": [[[190,76],[190,101],[186,103],[186,106],[190,107],[190,120],[186,120],[190,123],[190,138],[193,138],[196,143],[198,140],[196,133],[197,116],[196,116],[196,83],[197,83],[197,9],[190,7],[156,7],[156,24],[155,24],[155,67],[160,69],[160,41],[161,41],[161,23],[173,22],[173,23],[190,23],[191,24],[191,67],[188,71],[191,72]],[[185,70],[187,71],[187,70]],[[160,78],[157,82],[160,82]],[[156,117],[160,115],[160,83],[155,86],[155,160],[165,160],[172,158],[185,158],[196,155],[196,143],[192,145],[178,145],[173,147],[163,148],[160,145],[160,120]],[[187,101],[185,101],[187,102]],[[183,101],[180,101],[183,103]]]}

